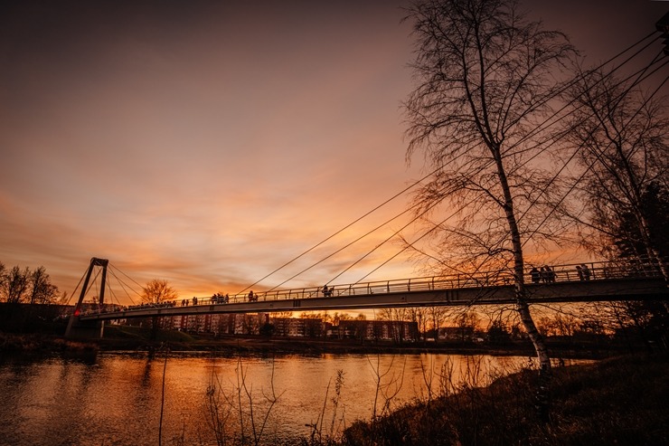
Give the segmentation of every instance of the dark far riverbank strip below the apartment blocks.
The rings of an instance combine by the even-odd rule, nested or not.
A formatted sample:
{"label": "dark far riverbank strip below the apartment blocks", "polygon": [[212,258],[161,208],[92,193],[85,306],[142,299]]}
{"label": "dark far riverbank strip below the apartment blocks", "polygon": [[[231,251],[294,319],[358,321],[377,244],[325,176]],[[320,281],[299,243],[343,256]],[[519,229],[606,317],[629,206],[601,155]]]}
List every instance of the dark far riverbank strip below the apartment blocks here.
{"label": "dark far riverbank strip below the apartment blocks", "polygon": [[[602,358],[619,355],[620,349],[592,344],[549,343],[555,358]],[[17,335],[0,332],[0,352],[90,354],[97,351],[203,351],[244,354],[420,354],[448,353],[454,355],[534,356],[529,342],[491,345],[484,343],[412,342],[396,344],[388,341],[361,342],[353,339],[311,339],[295,337],[197,337],[187,333],[139,327],[106,327],[102,339],[71,340],[50,334]]]}

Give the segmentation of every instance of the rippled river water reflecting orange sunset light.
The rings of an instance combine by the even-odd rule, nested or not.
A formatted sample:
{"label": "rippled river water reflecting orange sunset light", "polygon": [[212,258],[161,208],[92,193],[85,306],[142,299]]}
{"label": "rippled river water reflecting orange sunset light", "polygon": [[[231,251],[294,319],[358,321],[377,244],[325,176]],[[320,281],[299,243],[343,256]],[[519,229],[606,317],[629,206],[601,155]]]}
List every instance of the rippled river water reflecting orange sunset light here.
{"label": "rippled river water reflecting orange sunset light", "polygon": [[247,438],[297,444],[313,431],[307,424],[335,434],[385,403],[463,380],[485,385],[529,365],[526,356],[436,354],[5,357],[0,444],[216,445],[215,428],[220,439],[239,438],[240,421]]}

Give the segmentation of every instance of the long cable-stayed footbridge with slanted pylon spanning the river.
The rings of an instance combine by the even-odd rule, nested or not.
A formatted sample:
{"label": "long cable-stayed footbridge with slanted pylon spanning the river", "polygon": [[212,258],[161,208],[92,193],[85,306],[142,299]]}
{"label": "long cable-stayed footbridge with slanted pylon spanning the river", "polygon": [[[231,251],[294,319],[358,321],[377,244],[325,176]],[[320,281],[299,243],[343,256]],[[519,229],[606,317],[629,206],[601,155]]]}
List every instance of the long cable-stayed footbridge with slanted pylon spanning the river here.
{"label": "long cable-stayed footbridge with slanted pylon spanning the river", "polygon": [[[133,306],[99,305],[82,311],[82,301],[92,270],[102,269],[105,289],[107,260],[93,258],[79,302],[69,320],[66,336],[101,336],[103,322],[114,319],[152,318],[221,313],[271,313],[282,311],[340,310],[398,307],[476,306],[513,304],[514,277],[510,272],[485,271],[439,277],[377,280],[366,283],[250,291]],[[581,265],[586,265],[585,271]],[[579,266],[580,270],[576,267]],[[664,276],[651,263],[589,262],[555,265],[550,270],[528,272],[529,303],[592,302],[667,299]],[[100,304],[104,291],[100,293]]]}

